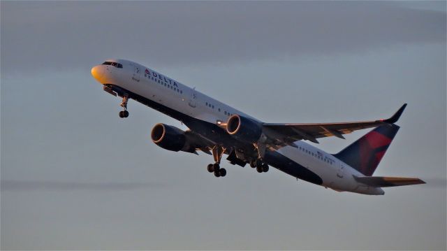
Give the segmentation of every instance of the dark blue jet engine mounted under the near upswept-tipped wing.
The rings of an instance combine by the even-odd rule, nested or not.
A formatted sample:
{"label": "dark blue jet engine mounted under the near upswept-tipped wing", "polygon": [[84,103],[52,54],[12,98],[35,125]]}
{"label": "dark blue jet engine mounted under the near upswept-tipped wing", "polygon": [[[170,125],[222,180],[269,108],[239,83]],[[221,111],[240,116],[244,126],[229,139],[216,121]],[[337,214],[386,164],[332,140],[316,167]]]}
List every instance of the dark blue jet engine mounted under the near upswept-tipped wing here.
{"label": "dark blue jet engine mounted under the near upswept-tipped wing", "polygon": [[228,119],[226,131],[231,136],[250,143],[258,141],[263,133],[263,129],[259,122],[240,115],[233,115]]}

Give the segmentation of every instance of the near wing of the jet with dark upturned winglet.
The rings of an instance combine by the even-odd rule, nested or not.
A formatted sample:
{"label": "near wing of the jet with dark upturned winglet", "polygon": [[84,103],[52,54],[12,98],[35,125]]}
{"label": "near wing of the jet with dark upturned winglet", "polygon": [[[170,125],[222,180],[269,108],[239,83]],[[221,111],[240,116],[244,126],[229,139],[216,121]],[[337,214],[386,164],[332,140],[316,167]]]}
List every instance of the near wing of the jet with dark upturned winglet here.
{"label": "near wing of the jet with dark upturned winglet", "polygon": [[270,138],[270,148],[279,149],[286,145],[294,145],[294,141],[307,140],[318,143],[317,138],[336,136],[344,138],[343,134],[353,131],[379,127],[381,124],[393,124],[399,120],[404,112],[406,103],[386,120],[371,120],[360,122],[314,123],[314,124],[272,124],[264,123],[266,136]]}

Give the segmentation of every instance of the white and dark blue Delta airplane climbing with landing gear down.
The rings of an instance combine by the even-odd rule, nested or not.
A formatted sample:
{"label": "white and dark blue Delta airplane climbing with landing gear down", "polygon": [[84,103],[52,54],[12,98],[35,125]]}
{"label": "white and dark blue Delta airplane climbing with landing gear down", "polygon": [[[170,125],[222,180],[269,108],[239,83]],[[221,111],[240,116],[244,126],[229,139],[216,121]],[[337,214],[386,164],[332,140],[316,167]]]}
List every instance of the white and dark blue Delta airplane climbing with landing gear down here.
{"label": "white and dark blue Delta airplane climbing with landing gear down", "polygon": [[[108,59],[94,66],[91,75],[103,90],[122,98],[119,117],[128,117],[129,99],[138,101],[189,129],[183,131],[168,124],[155,124],[152,141],[174,152],[198,151],[212,155],[214,163],[207,171],[216,177],[226,176],[221,168],[223,155],[230,164],[249,164],[258,173],[269,166],[307,182],[337,192],[383,195],[381,187],[424,184],[419,178],[372,176],[391,141],[400,129],[395,124],[406,103],[383,120],[336,123],[266,123],[173,78],[124,59]],[[337,154],[329,154],[304,141],[318,143],[318,138],[344,138],[360,129],[374,128]]]}

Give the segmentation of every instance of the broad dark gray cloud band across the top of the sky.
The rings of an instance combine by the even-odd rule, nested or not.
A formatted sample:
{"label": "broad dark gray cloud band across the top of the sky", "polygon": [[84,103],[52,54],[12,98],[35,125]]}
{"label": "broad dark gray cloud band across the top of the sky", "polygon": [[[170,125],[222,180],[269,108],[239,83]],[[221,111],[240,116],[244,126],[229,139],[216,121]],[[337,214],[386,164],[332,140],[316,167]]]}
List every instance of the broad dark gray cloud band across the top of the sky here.
{"label": "broad dark gray cloud band across the top of the sky", "polygon": [[387,2],[1,4],[3,71],[87,67],[106,57],[230,64],[446,41],[446,13]]}

